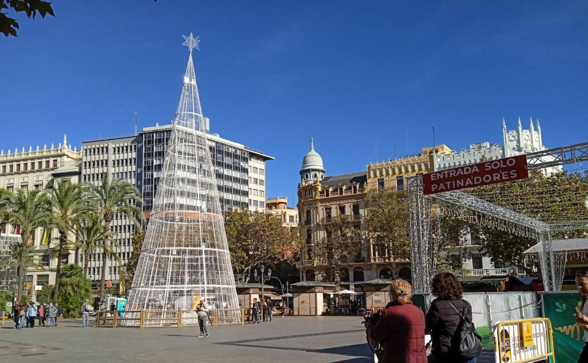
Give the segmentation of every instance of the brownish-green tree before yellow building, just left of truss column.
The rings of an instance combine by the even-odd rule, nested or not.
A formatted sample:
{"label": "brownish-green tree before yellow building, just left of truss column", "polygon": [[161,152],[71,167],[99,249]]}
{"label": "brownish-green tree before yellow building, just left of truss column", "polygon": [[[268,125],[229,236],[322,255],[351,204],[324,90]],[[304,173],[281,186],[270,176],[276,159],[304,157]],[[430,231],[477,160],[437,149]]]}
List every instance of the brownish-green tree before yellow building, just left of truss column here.
{"label": "brownish-green tree before yellow building, just left of truss column", "polygon": [[388,256],[410,257],[408,206],[396,189],[372,189],[366,195],[367,237]]}

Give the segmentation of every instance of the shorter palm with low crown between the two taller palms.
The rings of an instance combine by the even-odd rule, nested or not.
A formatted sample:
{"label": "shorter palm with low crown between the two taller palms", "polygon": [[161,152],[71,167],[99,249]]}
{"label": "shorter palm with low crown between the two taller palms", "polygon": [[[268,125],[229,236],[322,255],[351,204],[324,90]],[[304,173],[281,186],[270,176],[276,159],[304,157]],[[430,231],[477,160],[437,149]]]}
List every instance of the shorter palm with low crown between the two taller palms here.
{"label": "shorter palm with low crown between the two taller palms", "polygon": [[[75,246],[83,254],[83,272],[86,276],[90,274],[90,270],[88,270],[90,254],[94,253],[96,248],[103,247],[103,241],[113,241],[113,235],[110,228],[105,226],[103,220],[96,215],[86,217],[79,224]],[[114,255],[112,248],[107,248],[105,251],[108,256]]]}

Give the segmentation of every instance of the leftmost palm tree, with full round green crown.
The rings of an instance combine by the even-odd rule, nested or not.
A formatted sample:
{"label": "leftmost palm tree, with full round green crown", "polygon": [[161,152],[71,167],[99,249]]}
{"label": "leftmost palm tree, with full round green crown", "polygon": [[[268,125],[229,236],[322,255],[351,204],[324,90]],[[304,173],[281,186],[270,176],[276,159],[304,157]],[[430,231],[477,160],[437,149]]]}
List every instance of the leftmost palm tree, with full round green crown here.
{"label": "leftmost palm tree, with full round green crown", "polygon": [[36,228],[46,227],[51,221],[51,203],[44,191],[19,189],[5,201],[4,209],[0,210],[4,220],[21,228],[22,248],[18,258],[16,277],[16,299],[21,300],[22,285],[26,270],[26,253],[31,244],[31,237]]}

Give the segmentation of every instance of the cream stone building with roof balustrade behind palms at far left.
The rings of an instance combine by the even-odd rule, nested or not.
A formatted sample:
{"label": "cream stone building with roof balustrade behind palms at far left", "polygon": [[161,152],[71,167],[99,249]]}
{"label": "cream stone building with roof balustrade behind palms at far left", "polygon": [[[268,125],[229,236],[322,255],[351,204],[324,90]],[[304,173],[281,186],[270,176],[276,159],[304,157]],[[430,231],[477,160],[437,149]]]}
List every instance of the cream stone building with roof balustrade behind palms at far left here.
{"label": "cream stone building with roof balustrade behind palms at far left", "polygon": [[[23,147],[21,152],[15,149],[0,151],[0,188],[16,193],[19,189],[24,190],[45,190],[58,187],[59,181],[78,183],[79,165],[82,159],[81,151],[76,147],[68,146],[67,138],[64,135],[62,143],[57,147],[46,144],[41,148],[38,145],[35,149],[29,146],[28,151]],[[0,226],[0,233],[3,236],[19,234],[18,226],[4,224]],[[57,265],[57,253],[54,248],[59,236],[56,228],[37,228],[31,238],[35,246],[33,251],[35,260],[42,268],[29,268],[25,275],[27,293],[35,298],[36,285],[55,284],[55,267]],[[8,241],[10,238],[6,237]],[[69,240],[75,241],[75,235],[70,233]],[[69,251],[61,256],[63,263],[75,263],[75,254]]]}

